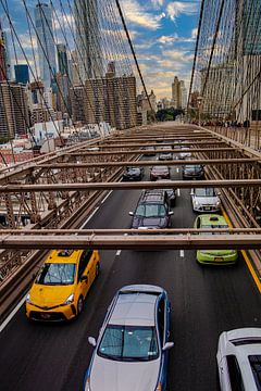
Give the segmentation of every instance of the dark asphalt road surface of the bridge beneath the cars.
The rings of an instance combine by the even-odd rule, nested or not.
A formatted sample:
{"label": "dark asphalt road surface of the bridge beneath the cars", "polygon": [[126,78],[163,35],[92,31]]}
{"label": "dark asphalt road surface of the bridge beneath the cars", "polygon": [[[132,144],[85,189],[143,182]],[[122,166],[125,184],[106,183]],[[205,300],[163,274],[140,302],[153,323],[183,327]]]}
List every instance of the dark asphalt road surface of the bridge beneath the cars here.
{"label": "dark asphalt road surface of the bridge beneath the cars", "polygon": [[[176,167],[172,178],[181,178]],[[139,194],[139,190],[114,191],[87,227],[129,227],[128,212]],[[196,215],[189,190],[181,190],[173,211],[173,227],[192,226]],[[244,260],[235,267],[201,267],[195,251],[102,251],[101,261],[101,274],[76,320],[32,324],[22,307],[1,332],[0,390],[82,390],[92,353],[87,338],[98,336],[115,291],[128,283],[159,285],[169,293],[171,340],[175,342],[170,353],[169,391],[217,390],[219,335],[238,327],[261,327],[261,298]]]}

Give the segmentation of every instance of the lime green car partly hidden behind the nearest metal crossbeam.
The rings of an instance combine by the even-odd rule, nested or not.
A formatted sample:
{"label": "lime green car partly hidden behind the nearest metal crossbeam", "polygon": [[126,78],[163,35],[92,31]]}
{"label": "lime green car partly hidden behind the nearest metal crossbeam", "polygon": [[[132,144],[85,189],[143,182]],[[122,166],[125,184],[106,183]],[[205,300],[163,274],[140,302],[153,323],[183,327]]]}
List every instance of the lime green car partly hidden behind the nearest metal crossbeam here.
{"label": "lime green car partly hidden behind the nearest metal crossbeam", "polygon": [[[225,217],[217,214],[199,215],[194,224],[194,228],[228,228]],[[208,235],[219,235],[219,232],[206,232]],[[204,232],[202,235],[206,235]],[[233,265],[237,261],[236,250],[198,250],[197,261],[202,265]]]}

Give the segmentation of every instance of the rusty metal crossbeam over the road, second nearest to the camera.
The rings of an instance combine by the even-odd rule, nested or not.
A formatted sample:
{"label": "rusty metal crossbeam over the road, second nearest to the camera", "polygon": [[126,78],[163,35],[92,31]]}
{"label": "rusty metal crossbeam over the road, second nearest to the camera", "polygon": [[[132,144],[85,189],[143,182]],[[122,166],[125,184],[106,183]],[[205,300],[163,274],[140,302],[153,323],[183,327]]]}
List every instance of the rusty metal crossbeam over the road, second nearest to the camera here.
{"label": "rusty metal crossbeam over the road, second nearest to the camera", "polygon": [[126,190],[126,189],[190,189],[190,188],[235,188],[261,187],[261,179],[232,180],[170,180],[139,182],[89,182],[89,184],[48,184],[48,185],[7,185],[0,186],[0,193],[26,191],[88,191],[88,190]]}

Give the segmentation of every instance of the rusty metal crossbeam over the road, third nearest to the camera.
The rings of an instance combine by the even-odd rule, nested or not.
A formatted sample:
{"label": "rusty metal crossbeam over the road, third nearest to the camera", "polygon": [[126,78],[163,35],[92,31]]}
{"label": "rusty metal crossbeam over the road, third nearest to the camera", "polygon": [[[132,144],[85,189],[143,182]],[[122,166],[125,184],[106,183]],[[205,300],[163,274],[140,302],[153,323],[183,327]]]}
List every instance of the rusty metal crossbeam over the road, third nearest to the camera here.
{"label": "rusty metal crossbeam over the road, third nearest to the camera", "polygon": [[87,167],[114,167],[114,166],[153,166],[153,165],[186,165],[186,164],[248,164],[248,163],[261,163],[261,157],[248,157],[248,159],[190,159],[190,160],[172,160],[172,161],[137,161],[137,162],[98,162],[98,163],[52,163],[40,164],[40,168],[87,168]]}

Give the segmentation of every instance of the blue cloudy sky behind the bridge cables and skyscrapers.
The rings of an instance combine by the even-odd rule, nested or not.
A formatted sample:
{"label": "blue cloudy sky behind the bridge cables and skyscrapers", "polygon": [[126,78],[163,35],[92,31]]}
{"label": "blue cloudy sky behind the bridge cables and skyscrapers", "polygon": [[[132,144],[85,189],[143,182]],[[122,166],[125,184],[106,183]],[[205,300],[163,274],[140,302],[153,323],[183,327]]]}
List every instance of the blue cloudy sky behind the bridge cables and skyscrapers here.
{"label": "blue cloudy sky behind the bridge cables and skyscrapers", "polygon": [[[23,48],[32,61],[28,26],[22,12],[23,1],[1,0],[1,3],[8,4]],[[37,0],[26,0],[32,14],[36,3]],[[200,3],[200,0],[121,0],[147,89],[149,92],[153,89],[158,100],[171,99],[174,76],[185,80],[189,88]],[[4,27],[9,26],[1,7],[0,17]],[[36,45],[36,39],[34,42]],[[24,60],[20,51],[17,55],[18,60]],[[11,58],[14,62],[13,52]]]}

